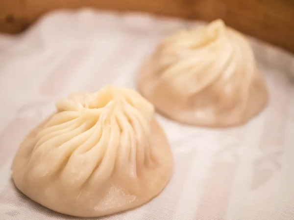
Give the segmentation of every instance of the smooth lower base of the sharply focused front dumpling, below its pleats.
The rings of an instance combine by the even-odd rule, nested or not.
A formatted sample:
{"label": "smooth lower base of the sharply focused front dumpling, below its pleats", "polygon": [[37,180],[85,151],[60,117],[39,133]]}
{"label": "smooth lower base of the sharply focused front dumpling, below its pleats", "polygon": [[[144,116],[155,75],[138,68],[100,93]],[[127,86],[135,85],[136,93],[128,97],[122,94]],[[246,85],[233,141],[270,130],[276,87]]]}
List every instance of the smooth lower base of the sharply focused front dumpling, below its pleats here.
{"label": "smooth lower base of the sharply focused front dumpling, below its pleats", "polygon": [[21,144],[13,161],[12,178],[16,187],[28,198],[53,211],[76,217],[100,217],[133,209],[156,197],[172,177],[173,159],[170,146],[161,127],[153,118],[150,124],[151,145],[160,155],[160,166],[146,169],[142,175],[138,171],[137,176],[128,177],[114,171],[106,181],[97,186],[87,182],[79,188],[66,186],[62,184],[58,174],[44,179],[41,184],[36,183],[29,175],[27,163],[34,147],[35,136],[48,120],[31,131]]}

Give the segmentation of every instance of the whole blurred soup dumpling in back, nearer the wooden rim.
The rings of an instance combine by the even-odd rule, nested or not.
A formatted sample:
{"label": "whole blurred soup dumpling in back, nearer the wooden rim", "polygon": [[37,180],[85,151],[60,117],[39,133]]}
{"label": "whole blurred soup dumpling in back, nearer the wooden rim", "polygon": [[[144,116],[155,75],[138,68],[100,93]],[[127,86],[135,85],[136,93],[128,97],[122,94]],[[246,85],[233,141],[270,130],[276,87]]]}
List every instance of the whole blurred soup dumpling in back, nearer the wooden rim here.
{"label": "whole blurred soup dumpling in back, nearer the wooden rim", "polygon": [[166,116],[207,127],[245,123],[268,97],[245,36],[221,20],[166,38],[143,66],[138,86]]}

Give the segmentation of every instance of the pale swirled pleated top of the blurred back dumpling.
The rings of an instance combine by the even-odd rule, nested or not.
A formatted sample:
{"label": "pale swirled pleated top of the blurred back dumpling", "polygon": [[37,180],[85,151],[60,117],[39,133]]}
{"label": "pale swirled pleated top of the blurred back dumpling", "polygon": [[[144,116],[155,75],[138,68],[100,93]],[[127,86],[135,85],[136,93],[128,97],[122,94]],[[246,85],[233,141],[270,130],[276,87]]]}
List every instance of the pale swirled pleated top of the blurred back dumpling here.
{"label": "pale swirled pleated top of the blurred back dumpling", "polygon": [[221,20],[166,38],[156,56],[161,77],[187,95],[216,83],[226,97],[234,90],[246,96],[257,71],[247,40]]}

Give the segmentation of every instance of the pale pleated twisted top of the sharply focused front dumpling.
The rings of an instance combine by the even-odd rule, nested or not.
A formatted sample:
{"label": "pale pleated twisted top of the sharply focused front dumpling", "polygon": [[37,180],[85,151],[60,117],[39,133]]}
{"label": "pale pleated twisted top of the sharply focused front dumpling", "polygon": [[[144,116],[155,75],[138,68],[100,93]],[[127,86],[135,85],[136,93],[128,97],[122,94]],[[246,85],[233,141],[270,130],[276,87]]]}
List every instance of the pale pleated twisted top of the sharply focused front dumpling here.
{"label": "pale pleated twisted top of the sharply focused front dumpling", "polygon": [[[93,176],[95,184],[102,173],[103,178],[111,175],[116,160],[135,164],[137,159],[148,164],[145,148],[150,147],[154,108],[136,91],[107,86],[93,94],[70,95],[56,107],[58,112],[36,135],[28,163],[30,175],[46,178],[64,166],[63,183],[81,186],[98,164],[95,176],[100,179]],[[129,172],[136,176],[136,167]]]}

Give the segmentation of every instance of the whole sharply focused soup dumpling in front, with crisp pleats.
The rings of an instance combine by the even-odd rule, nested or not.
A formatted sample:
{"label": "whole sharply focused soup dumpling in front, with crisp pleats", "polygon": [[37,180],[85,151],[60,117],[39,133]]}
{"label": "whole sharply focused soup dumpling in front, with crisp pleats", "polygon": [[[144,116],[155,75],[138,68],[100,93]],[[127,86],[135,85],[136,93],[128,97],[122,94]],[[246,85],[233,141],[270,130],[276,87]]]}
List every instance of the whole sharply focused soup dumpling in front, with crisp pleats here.
{"label": "whole sharply focused soup dumpling in front, with crisp pleats", "polygon": [[137,207],[172,176],[172,154],[137,92],[108,86],[57,102],[13,161],[16,187],[60,213],[98,217]]}

